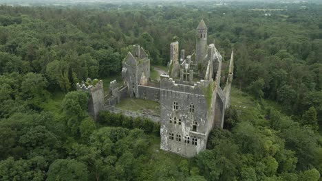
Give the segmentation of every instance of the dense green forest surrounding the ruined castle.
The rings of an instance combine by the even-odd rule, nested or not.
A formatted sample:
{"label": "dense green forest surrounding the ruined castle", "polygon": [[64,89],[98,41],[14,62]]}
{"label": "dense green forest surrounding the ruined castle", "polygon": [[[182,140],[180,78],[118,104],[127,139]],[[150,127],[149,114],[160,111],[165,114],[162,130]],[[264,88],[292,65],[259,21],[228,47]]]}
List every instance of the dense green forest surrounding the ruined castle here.
{"label": "dense green forest surrounding the ruined castle", "polygon": [[[0,5],[0,180],[321,180],[322,5],[280,6]],[[147,119],[88,116],[77,82],[118,76],[129,45],[154,65],[173,38],[193,53],[200,19],[225,61],[235,52],[206,151],[161,151]]]}

